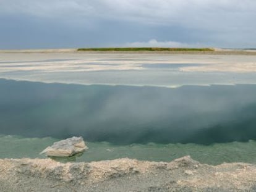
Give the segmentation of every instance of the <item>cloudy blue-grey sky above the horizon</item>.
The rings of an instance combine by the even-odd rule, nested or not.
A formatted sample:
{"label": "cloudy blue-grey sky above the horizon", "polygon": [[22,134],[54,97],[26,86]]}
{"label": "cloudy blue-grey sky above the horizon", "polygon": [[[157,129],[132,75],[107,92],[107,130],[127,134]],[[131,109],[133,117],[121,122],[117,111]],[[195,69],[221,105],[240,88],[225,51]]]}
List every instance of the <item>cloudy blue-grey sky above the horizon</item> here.
{"label": "cloudy blue-grey sky above the horizon", "polygon": [[0,49],[256,48],[255,0],[0,0]]}

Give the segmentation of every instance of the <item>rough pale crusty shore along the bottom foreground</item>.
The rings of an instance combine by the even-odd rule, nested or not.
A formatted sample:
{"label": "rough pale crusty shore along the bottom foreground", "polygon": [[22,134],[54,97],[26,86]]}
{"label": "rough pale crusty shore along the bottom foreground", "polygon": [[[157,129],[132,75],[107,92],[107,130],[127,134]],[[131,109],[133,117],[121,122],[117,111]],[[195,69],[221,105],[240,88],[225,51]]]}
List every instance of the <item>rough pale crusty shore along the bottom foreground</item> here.
{"label": "rough pale crusty shore along the bottom foreground", "polygon": [[134,159],[61,164],[1,159],[0,191],[255,191],[256,165]]}

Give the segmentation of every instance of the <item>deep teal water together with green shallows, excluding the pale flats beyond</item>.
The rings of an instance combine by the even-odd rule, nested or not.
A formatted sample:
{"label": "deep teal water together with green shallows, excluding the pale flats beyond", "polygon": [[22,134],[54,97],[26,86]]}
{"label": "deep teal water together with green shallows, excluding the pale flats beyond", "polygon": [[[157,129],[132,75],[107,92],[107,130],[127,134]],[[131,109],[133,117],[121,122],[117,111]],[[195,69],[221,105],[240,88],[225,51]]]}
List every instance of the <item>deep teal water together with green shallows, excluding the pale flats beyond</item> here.
{"label": "deep teal water together with green shallows, excluding the pale flats beyond", "polygon": [[0,158],[43,157],[54,141],[90,148],[59,161],[130,157],[256,163],[256,85],[74,85],[0,80]]}

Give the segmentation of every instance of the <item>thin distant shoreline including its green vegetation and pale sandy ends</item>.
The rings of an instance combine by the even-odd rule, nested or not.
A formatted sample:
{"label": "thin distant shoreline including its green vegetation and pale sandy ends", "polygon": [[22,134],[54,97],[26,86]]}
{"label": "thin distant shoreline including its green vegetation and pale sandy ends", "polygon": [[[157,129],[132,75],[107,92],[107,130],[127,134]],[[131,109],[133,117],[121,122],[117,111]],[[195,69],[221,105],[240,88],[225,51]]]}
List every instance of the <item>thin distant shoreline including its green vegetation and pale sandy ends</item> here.
{"label": "thin distant shoreline including its green vegetation and pale sandy ends", "polygon": [[[169,50],[168,50],[169,49]],[[149,51],[151,50],[151,51]],[[0,53],[26,54],[209,54],[209,55],[249,55],[255,56],[255,49],[219,48],[94,48],[94,49],[0,49]]]}

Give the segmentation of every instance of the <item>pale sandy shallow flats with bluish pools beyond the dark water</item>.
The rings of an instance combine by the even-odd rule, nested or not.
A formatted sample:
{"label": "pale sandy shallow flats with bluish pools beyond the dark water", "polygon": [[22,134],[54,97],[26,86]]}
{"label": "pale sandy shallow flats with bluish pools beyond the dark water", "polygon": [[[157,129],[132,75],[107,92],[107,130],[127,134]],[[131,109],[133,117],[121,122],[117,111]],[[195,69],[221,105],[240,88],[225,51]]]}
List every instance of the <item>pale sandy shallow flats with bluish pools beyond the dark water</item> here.
{"label": "pale sandy shallow flats with bluish pools beyond the dark water", "polygon": [[255,61],[234,55],[0,53],[0,78],[164,87],[256,84]]}

